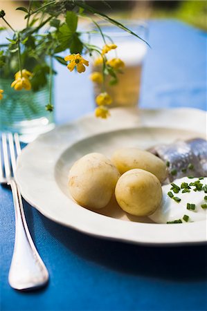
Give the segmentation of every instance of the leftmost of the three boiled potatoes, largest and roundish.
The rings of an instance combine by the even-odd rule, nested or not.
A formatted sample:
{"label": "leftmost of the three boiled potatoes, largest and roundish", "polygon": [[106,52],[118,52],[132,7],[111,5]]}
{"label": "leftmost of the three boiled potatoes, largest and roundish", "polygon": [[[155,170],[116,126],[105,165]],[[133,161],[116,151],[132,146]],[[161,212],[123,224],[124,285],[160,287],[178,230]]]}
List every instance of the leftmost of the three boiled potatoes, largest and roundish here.
{"label": "leftmost of the three boiled potatoes, largest and roundish", "polygon": [[105,207],[114,194],[118,169],[101,153],[89,153],[73,164],[69,189],[78,204],[91,209]]}

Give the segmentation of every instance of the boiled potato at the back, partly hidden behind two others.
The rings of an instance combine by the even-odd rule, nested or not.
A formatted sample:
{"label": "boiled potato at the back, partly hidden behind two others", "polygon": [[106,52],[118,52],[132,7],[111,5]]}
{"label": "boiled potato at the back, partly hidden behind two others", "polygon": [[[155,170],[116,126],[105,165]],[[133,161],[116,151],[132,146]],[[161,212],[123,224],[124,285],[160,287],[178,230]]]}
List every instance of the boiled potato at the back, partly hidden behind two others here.
{"label": "boiled potato at the back, partly hidden behind two others", "polygon": [[154,154],[136,148],[120,149],[113,153],[111,161],[121,174],[129,169],[144,169],[153,173],[160,182],[167,177],[165,163]]}

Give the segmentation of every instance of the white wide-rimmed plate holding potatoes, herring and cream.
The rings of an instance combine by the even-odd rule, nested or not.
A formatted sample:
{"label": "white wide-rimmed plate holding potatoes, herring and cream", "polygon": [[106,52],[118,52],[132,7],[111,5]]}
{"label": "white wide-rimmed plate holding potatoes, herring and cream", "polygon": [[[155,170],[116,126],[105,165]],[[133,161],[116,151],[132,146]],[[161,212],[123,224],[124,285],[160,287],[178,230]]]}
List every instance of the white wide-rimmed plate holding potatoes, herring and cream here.
{"label": "white wide-rimmed plate holding potatoes, herring and cream", "polygon": [[90,211],[71,199],[67,178],[73,162],[86,153],[110,156],[120,147],[147,149],[177,139],[205,137],[205,125],[206,113],[196,109],[114,109],[108,120],[89,115],[29,144],[19,157],[15,178],[24,198],[44,216],[81,232],[150,245],[204,243],[206,221],[150,223],[148,218],[128,216],[114,202],[98,212]]}

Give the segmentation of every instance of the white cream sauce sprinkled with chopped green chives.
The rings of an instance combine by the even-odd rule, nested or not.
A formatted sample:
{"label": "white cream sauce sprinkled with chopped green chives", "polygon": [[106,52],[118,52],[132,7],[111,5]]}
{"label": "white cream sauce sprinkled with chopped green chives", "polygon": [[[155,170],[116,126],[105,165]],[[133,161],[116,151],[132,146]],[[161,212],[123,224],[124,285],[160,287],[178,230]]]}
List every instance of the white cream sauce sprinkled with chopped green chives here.
{"label": "white cream sauce sprinkled with chopped green chives", "polygon": [[[199,178],[188,178],[183,177],[177,180],[174,180],[174,184],[181,187],[182,182],[187,182],[188,185],[190,182],[195,182]],[[200,180],[201,184],[207,184],[207,178]],[[201,205],[207,204],[207,201],[204,200],[205,194],[204,190],[201,191],[193,191],[195,186],[190,186],[190,192],[182,193],[181,189],[178,194],[174,194],[171,189],[172,185],[164,185],[163,189],[163,200],[161,206],[154,212],[154,214],[150,215],[151,218],[155,223],[167,223],[168,221],[174,221],[181,219],[183,223],[183,216],[189,216],[188,222],[193,222],[197,220],[205,220],[207,216],[207,209],[203,209]],[[181,198],[180,202],[176,202],[173,198],[168,196],[168,192],[171,191],[172,194],[177,197]],[[195,204],[195,210],[187,209],[187,203]]]}

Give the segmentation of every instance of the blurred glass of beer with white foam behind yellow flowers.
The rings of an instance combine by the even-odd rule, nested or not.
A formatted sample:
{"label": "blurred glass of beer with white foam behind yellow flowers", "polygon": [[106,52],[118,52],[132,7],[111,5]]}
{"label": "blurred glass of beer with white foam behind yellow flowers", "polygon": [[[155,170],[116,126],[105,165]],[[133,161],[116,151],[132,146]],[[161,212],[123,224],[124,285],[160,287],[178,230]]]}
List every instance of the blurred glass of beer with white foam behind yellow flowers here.
{"label": "blurred glass of beer with white foam behind yellow flowers", "polygon": [[[147,41],[146,23],[138,21],[121,21],[121,23]],[[111,41],[113,41],[117,46],[115,50],[110,50],[106,54],[107,59],[119,58],[125,63],[125,66],[117,73],[118,82],[116,82],[116,84],[111,85],[111,77],[109,75],[106,76],[104,82],[105,91],[113,100],[110,106],[136,106],[140,93],[141,72],[143,60],[147,53],[147,44],[134,35],[131,35],[129,32],[125,32],[125,30],[111,25],[111,23],[100,22],[99,26],[105,35],[107,44],[111,44]],[[91,36],[91,44],[100,48],[105,45],[100,33],[94,33]],[[93,59],[91,71],[102,72],[102,65],[96,64],[96,59]],[[93,90],[94,96],[96,97],[98,94],[102,93],[102,85],[96,82],[93,83]]]}

